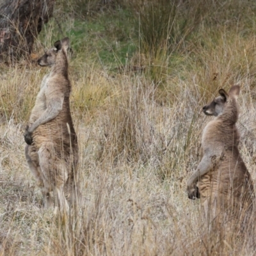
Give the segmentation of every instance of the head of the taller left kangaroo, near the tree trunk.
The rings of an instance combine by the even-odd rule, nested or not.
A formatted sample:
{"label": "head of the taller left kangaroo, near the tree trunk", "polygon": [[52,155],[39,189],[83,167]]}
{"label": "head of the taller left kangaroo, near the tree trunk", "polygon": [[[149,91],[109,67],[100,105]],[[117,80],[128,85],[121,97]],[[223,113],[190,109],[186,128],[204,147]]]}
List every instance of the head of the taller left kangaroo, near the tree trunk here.
{"label": "head of the taller left kangaroo, near the tree trunk", "polygon": [[38,65],[41,67],[52,67],[56,63],[56,58],[61,51],[67,53],[69,39],[67,37],[54,43],[54,47],[45,51],[45,54],[38,59]]}

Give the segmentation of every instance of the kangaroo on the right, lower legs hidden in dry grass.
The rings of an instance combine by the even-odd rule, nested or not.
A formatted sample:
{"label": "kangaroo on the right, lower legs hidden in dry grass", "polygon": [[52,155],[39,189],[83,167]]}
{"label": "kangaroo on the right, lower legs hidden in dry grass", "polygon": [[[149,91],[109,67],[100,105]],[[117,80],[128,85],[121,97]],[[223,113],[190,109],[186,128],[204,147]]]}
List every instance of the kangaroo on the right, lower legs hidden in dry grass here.
{"label": "kangaroo on the right, lower legs hidden in dry grass", "polygon": [[[188,197],[201,200],[205,218],[217,215],[242,218],[252,212],[254,191],[252,178],[239,154],[237,98],[240,86],[229,92],[219,90],[220,96],[204,106],[205,115],[215,116],[202,134],[202,159],[188,180]],[[197,186],[196,186],[197,183]],[[246,215],[244,215],[246,214]]]}

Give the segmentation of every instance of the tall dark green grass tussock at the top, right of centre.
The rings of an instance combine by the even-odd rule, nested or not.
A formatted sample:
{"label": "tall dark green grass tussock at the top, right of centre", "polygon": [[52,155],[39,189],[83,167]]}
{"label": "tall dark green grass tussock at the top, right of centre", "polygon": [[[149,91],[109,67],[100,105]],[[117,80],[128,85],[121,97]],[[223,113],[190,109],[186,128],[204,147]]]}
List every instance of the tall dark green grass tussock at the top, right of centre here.
{"label": "tall dark green grass tussock at the top, right of centre", "polygon": [[156,56],[159,51],[172,52],[200,21],[198,1],[140,0],[131,1],[136,19],[141,51]]}

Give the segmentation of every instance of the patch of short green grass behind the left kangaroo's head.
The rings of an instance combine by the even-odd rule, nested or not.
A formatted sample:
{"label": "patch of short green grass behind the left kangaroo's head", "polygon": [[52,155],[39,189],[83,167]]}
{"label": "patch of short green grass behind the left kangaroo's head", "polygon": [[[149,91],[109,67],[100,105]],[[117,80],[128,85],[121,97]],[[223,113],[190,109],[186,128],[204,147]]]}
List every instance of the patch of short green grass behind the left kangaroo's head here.
{"label": "patch of short green grass behind the left kangaroo's head", "polygon": [[[40,38],[46,45],[68,36],[75,56],[84,61],[97,61],[103,68],[115,70],[124,67],[137,49],[132,38],[131,15],[118,9],[113,13],[99,14],[93,19],[73,19],[68,15],[52,19],[45,25]],[[47,35],[51,30],[51,36]]]}

